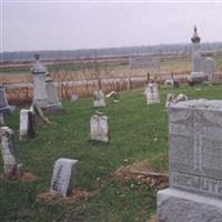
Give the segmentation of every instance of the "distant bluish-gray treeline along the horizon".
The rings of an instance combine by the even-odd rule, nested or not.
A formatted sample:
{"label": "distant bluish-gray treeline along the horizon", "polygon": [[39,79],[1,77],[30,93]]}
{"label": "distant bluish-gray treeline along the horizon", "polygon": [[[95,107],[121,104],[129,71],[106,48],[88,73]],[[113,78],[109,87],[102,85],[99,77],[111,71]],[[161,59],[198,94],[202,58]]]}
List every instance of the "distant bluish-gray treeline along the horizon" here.
{"label": "distant bluish-gray treeline along the horizon", "polygon": [[[0,58],[2,62],[7,61],[30,61],[34,53],[40,53],[43,60],[72,60],[83,58],[101,57],[121,57],[132,54],[186,54],[191,53],[191,43],[183,44],[159,44],[122,47],[107,49],[78,49],[78,50],[49,50],[49,51],[23,51],[23,52],[2,52]],[[222,51],[222,42],[201,43],[201,50],[209,52]]]}

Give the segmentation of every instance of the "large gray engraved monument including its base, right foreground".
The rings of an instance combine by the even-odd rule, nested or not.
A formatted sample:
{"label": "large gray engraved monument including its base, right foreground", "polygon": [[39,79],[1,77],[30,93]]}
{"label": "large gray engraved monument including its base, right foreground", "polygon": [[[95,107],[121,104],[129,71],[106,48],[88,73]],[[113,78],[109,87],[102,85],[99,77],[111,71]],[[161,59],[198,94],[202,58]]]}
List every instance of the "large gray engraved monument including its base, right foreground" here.
{"label": "large gray engraved monument including its base, right foreground", "polygon": [[222,101],[169,108],[170,188],[158,192],[159,222],[222,220]]}

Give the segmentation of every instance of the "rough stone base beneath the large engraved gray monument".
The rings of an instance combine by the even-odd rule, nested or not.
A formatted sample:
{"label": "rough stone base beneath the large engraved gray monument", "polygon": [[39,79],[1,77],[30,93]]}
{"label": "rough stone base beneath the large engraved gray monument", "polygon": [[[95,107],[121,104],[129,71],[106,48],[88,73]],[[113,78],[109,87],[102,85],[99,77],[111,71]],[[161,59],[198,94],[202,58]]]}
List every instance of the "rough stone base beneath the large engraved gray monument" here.
{"label": "rough stone base beneath the large engraved gray monument", "polygon": [[186,191],[158,192],[159,222],[221,222],[222,201]]}

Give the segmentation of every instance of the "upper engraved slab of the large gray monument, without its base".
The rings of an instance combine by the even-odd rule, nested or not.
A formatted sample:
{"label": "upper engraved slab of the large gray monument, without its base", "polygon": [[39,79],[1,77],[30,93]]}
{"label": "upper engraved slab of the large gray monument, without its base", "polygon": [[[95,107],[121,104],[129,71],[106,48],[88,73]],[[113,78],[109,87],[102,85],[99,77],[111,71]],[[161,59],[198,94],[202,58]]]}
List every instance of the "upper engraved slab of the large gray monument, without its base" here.
{"label": "upper engraved slab of the large gray monument, without its base", "polygon": [[222,101],[169,107],[170,186],[222,199]]}

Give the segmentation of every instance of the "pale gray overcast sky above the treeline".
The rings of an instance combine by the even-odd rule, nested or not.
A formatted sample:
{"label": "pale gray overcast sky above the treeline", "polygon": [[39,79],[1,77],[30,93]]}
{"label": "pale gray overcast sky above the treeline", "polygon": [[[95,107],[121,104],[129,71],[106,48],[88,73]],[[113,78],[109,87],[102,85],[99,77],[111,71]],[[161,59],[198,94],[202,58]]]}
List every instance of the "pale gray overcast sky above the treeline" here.
{"label": "pale gray overcast sky above the treeline", "polygon": [[222,41],[222,2],[1,2],[1,51]]}

